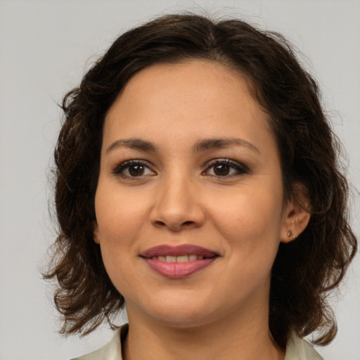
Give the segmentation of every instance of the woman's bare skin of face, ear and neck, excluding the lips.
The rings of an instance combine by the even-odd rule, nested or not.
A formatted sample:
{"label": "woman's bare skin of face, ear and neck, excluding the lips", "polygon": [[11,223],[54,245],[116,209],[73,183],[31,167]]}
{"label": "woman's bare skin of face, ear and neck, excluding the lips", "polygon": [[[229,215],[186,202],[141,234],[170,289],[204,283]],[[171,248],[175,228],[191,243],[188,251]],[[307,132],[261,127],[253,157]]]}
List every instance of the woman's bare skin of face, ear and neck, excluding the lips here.
{"label": "woman's bare skin of face, ear and neck, excluding the lips", "polygon": [[[134,138],[156,149],[121,142]],[[194,151],[219,138],[241,142]],[[134,159],[140,168],[124,166]],[[221,167],[216,159],[233,162]],[[271,266],[279,243],[292,240],[289,230],[301,233],[309,214],[302,193],[283,199],[274,134],[240,73],[192,60],[130,79],[105,119],[94,224],[105,268],[127,303],[124,359],[284,358],[269,334]],[[139,256],[164,244],[198,245],[219,257],[170,279]]]}

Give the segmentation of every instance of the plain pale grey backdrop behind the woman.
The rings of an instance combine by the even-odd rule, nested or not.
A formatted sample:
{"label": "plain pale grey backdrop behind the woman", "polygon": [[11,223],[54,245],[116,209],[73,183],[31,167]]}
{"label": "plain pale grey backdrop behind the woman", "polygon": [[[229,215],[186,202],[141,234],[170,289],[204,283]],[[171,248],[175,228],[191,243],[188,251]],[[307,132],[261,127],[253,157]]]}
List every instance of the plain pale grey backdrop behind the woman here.
{"label": "plain pale grey backdrop behind the woman", "polygon": [[[71,359],[110,339],[106,326],[83,339],[60,337],[39,272],[55,233],[47,204],[56,103],[120,33],[178,11],[231,15],[285,34],[323,90],[360,188],[359,1],[0,0],[0,360]],[[356,191],[352,214],[359,235]],[[339,333],[318,349],[327,360],[360,360],[359,278],[358,255],[332,297]]]}

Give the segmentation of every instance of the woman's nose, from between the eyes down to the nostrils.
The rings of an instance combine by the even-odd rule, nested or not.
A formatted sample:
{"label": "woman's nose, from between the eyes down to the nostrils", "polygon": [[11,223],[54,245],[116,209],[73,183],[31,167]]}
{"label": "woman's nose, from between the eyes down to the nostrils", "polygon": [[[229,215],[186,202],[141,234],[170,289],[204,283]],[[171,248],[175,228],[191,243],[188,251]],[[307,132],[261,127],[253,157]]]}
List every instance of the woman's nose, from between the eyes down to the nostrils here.
{"label": "woman's nose, from between the eyes down to the nostrils", "polygon": [[154,193],[151,224],[176,232],[203,225],[205,212],[200,205],[200,191],[194,183],[186,176],[160,181]]}

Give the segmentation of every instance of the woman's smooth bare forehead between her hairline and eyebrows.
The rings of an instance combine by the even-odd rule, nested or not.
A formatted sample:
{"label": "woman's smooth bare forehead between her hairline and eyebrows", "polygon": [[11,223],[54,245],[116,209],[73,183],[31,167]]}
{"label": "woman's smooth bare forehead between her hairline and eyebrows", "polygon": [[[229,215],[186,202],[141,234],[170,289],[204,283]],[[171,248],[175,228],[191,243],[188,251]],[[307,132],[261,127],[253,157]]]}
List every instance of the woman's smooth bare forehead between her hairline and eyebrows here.
{"label": "woman's smooth bare forehead between her hairline and eyebrows", "polygon": [[261,139],[271,132],[245,76],[209,60],[191,60],[151,65],[134,75],[108,111],[104,141],[120,133],[175,140],[181,131],[194,140],[232,136],[233,131]]}

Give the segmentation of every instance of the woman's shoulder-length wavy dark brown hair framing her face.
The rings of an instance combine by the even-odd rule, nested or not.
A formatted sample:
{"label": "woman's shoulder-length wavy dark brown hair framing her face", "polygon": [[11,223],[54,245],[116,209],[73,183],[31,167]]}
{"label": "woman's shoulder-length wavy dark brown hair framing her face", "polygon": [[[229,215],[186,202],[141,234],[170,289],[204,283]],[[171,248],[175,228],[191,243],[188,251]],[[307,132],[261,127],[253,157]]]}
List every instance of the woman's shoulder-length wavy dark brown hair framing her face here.
{"label": "woman's shoulder-length wavy dark brown hair framing her face", "polygon": [[285,197],[294,184],[307,189],[311,219],[294,241],[281,243],[272,269],[269,328],[285,348],[290,330],[314,342],[333,340],[336,323],[326,302],[356,252],[347,218],[347,180],[339,142],[330,129],[321,95],[288,42],[240,20],[166,15],[120,36],[66,94],[63,127],[55,150],[58,237],[44,275],[55,279],[56,308],[65,334],[90,333],[124,305],[106,274],[93,238],[94,197],[105,115],[129,79],[155,63],[190,59],[235,68],[269,114],[281,154]]}

